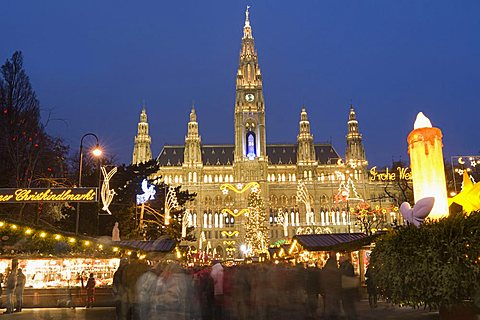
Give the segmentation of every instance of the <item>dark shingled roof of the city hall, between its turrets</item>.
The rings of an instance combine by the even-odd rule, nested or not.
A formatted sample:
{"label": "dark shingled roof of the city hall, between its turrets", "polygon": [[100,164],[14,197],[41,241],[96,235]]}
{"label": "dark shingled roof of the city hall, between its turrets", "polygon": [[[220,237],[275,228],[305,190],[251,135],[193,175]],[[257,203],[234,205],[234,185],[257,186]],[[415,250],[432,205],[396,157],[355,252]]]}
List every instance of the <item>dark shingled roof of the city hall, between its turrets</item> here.
{"label": "dark shingled roof of the city hall, between its turrets", "polygon": [[[228,166],[233,164],[235,146],[230,145],[203,145],[202,161],[205,166]],[[331,144],[315,144],[315,154],[320,164],[335,164],[340,156]],[[160,166],[181,166],[183,164],[184,146],[164,146],[157,160]],[[269,163],[292,164],[297,163],[296,144],[267,145]]]}

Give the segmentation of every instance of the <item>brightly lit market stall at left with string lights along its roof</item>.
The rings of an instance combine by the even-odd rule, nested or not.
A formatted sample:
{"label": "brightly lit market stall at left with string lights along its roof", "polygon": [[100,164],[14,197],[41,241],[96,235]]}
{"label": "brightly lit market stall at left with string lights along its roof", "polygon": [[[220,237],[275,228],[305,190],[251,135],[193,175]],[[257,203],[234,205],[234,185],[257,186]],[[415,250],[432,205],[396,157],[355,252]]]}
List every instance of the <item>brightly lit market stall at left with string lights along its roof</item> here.
{"label": "brightly lit market stall at left with string lights along its roof", "polygon": [[26,276],[24,306],[82,306],[93,273],[96,305],[113,305],[113,274],[120,259],[170,252],[176,242],[111,241],[0,221],[0,273],[21,268]]}

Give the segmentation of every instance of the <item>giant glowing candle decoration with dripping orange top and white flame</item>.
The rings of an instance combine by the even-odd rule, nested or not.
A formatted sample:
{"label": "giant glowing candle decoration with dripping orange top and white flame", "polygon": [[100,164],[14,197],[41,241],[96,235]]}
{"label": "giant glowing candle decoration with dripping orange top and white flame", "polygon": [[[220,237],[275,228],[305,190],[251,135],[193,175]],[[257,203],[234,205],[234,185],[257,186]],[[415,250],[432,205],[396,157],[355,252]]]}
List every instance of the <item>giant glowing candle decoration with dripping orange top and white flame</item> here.
{"label": "giant glowing candle decoration with dripping orange top and white flame", "polygon": [[433,128],[423,113],[417,115],[414,130],[407,138],[412,168],[415,202],[434,197],[429,217],[440,219],[448,215],[447,184],[442,152],[442,131]]}

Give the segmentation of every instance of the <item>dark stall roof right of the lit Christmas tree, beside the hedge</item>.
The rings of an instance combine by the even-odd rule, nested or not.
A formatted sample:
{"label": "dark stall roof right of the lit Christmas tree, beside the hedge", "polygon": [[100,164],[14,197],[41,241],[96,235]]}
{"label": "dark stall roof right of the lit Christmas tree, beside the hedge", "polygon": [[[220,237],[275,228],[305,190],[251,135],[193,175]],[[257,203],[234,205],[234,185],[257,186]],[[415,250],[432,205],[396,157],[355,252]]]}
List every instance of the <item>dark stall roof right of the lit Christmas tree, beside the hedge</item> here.
{"label": "dark stall roof right of the lit Christmas tree, beside the hedge", "polygon": [[341,251],[358,249],[375,237],[365,233],[328,233],[296,235],[293,239],[308,251]]}

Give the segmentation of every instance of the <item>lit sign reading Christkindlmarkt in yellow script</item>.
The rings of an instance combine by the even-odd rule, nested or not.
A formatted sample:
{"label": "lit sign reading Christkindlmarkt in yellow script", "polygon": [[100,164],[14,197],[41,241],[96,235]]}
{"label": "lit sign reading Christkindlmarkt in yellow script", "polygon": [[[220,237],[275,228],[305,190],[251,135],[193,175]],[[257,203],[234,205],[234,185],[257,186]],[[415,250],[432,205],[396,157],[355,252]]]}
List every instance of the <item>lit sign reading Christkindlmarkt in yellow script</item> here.
{"label": "lit sign reading Christkindlmarkt in yellow script", "polygon": [[95,202],[97,188],[0,189],[0,203]]}

